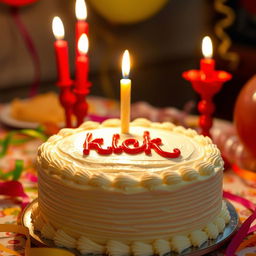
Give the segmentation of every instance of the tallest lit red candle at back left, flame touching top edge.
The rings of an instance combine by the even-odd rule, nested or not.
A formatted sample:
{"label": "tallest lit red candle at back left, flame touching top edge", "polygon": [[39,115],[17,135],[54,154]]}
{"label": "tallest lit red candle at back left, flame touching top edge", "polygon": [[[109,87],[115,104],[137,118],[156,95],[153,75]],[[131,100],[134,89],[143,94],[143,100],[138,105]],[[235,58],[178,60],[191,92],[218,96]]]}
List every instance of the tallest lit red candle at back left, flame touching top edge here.
{"label": "tallest lit red candle at back left, flame touching top edge", "polygon": [[86,22],[87,18],[87,8],[84,0],[76,0],[76,56],[79,56],[80,52],[78,50],[78,40],[82,34],[88,36],[89,26]]}

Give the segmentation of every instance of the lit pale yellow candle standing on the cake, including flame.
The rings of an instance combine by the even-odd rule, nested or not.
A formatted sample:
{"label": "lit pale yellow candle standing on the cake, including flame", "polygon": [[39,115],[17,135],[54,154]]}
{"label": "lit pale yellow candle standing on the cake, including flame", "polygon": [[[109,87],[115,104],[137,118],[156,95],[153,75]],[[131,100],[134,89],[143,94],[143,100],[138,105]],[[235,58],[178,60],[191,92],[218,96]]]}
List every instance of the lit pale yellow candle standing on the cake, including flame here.
{"label": "lit pale yellow candle standing on the cake, including flame", "polygon": [[121,94],[121,131],[129,133],[130,126],[130,108],[131,108],[131,80],[128,79],[130,73],[130,56],[128,50],[125,50],[122,59],[123,79],[120,81]]}

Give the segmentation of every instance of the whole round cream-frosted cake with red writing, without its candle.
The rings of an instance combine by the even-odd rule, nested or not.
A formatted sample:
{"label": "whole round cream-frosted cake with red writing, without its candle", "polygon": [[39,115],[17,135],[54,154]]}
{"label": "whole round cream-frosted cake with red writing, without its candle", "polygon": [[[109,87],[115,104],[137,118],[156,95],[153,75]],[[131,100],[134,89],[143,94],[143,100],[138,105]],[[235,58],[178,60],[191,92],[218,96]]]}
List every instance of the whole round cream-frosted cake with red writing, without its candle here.
{"label": "whole round cream-frosted cake with red writing, without its candle", "polygon": [[230,220],[210,138],[136,119],[62,129],[38,151],[35,230],[81,254],[164,255],[216,239]]}

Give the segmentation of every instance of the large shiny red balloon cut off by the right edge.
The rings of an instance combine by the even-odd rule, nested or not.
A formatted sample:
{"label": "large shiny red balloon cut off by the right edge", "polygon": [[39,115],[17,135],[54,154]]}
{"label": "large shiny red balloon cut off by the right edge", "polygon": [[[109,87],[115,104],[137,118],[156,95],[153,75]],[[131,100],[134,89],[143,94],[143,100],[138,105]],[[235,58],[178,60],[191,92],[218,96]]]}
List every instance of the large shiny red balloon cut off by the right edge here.
{"label": "large shiny red balloon cut off by the right edge", "polygon": [[256,75],[244,85],[237,98],[234,121],[241,142],[256,157]]}

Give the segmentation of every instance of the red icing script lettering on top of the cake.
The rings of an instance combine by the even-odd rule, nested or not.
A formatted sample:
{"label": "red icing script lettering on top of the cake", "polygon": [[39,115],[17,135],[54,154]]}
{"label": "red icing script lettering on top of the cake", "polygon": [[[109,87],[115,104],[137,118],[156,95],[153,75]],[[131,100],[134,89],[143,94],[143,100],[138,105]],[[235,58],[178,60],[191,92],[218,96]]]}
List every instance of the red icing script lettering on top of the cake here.
{"label": "red icing script lettering on top of the cake", "polygon": [[146,155],[151,155],[151,150],[154,150],[157,154],[166,158],[177,158],[180,156],[180,150],[178,148],[173,149],[173,152],[164,151],[161,149],[162,140],[160,138],[151,139],[150,133],[145,131],[143,134],[143,143],[140,145],[138,140],[130,138],[118,145],[120,139],[119,134],[114,134],[112,137],[112,145],[103,148],[104,139],[96,138],[92,139],[92,133],[87,133],[84,142],[84,155],[89,155],[90,150],[95,150],[100,155],[121,154],[125,152],[127,154],[135,155],[145,152]]}

